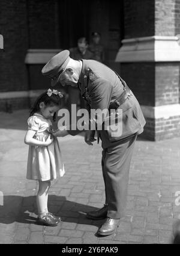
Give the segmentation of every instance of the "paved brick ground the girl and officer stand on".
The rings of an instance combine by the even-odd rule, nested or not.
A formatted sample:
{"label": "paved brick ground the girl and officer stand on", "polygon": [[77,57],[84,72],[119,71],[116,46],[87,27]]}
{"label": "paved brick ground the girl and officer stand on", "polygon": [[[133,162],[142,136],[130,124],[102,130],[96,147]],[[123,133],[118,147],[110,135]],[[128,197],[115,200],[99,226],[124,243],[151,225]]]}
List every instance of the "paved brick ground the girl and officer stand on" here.
{"label": "paved brick ground the girl and officer stand on", "polygon": [[49,210],[63,221],[55,227],[37,225],[37,183],[26,180],[27,116],[27,110],[1,113],[0,243],[172,243],[172,223],[180,213],[180,206],[175,205],[175,193],[180,195],[180,138],[137,140],[127,216],[116,234],[97,237],[102,220],[86,219],[86,212],[104,203],[101,146],[86,145],[82,136],[59,139],[66,173],[52,183]]}

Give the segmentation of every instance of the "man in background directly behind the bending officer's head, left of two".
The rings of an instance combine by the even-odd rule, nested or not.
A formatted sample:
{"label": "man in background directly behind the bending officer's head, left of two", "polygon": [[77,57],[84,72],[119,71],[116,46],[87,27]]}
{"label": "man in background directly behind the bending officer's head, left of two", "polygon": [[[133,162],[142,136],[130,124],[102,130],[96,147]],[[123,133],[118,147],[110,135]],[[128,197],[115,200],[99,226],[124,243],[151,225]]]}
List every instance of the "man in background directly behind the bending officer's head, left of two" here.
{"label": "man in background directly behind the bending officer's head, left of two", "polygon": [[[94,59],[94,55],[88,50],[88,42],[85,37],[80,37],[77,40],[77,47],[70,49],[70,57],[74,60],[80,59]],[[77,108],[85,108],[85,101],[80,98],[80,91],[78,88],[68,87],[68,108],[71,110],[71,104],[77,104]]]}

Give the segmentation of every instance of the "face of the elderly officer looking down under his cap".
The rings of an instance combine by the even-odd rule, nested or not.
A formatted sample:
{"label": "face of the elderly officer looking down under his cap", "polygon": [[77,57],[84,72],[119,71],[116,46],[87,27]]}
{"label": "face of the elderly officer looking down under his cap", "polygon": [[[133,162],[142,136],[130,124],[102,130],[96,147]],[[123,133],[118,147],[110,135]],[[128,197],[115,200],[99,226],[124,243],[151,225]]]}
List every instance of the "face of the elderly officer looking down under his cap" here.
{"label": "face of the elderly officer looking down under his cap", "polygon": [[77,87],[78,80],[79,75],[77,74],[76,70],[73,70],[71,68],[66,69],[64,72],[62,72],[59,79],[62,86],[70,85],[72,87]]}

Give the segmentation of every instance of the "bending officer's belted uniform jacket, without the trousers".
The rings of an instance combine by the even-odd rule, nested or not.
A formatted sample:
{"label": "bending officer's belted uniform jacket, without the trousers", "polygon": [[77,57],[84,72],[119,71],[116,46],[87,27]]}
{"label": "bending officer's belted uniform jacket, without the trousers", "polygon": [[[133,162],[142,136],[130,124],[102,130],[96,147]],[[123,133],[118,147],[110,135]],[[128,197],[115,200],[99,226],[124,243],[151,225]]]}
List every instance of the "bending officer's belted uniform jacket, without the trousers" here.
{"label": "bending officer's belted uniform jacket, without the trousers", "polygon": [[[124,93],[124,85],[118,75],[109,67],[95,60],[82,60],[79,89],[81,96],[88,101],[89,107],[95,110],[109,109]],[[107,148],[125,137],[143,132],[146,121],[139,102],[131,91],[126,98],[116,108],[117,112],[122,109],[122,134],[114,137],[107,130],[98,131],[103,148]],[[79,131],[70,130],[68,133],[76,135]]]}

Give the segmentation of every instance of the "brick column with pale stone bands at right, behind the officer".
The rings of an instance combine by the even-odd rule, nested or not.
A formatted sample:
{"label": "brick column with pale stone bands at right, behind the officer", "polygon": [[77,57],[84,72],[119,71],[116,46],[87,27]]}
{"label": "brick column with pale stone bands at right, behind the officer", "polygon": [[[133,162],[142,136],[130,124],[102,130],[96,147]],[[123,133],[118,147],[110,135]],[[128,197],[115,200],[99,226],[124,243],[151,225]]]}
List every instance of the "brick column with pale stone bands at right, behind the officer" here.
{"label": "brick column with pale stone bands at right, behind the officer", "polygon": [[116,61],[145,114],[143,136],[151,140],[180,136],[179,3],[124,1],[125,38]]}

